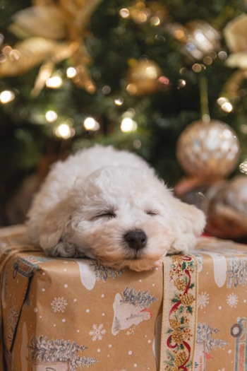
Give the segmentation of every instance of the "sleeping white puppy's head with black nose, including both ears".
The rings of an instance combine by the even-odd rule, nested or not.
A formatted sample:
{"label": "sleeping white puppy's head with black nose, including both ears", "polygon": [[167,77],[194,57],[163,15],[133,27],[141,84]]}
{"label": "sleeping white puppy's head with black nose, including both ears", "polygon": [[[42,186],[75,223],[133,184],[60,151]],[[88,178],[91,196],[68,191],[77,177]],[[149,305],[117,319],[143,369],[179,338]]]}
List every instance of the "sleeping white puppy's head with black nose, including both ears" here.
{"label": "sleeping white puppy's head with black nose, including both ears", "polygon": [[152,170],[112,166],[77,180],[44,221],[40,244],[55,256],[143,271],[193,248],[204,225],[203,213],[175,199]]}

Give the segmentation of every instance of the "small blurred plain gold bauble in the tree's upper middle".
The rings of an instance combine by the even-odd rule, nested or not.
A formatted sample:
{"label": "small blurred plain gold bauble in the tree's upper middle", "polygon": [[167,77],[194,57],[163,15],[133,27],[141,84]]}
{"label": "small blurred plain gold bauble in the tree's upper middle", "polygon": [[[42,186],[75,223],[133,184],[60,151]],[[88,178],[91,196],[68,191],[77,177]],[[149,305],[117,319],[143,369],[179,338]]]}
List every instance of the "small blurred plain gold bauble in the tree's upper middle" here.
{"label": "small blurred plain gold bauble in the tree's upper middle", "polygon": [[162,71],[159,66],[149,59],[131,60],[128,71],[128,86],[126,90],[131,95],[146,95],[155,93],[159,87],[159,76]]}

